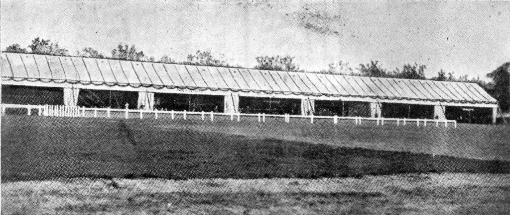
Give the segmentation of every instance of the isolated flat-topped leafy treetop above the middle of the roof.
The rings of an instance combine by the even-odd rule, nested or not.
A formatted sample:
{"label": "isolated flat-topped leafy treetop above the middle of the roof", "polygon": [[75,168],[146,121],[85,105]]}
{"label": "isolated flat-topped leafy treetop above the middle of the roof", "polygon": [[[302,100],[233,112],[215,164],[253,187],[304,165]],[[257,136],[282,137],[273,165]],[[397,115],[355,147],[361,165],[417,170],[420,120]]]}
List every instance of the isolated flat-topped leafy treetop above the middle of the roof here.
{"label": "isolated flat-topped leafy treetop above the middle of the roof", "polygon": [[259,70],[277,70],[277,71],[294,71],[302,72],[299,67],[293,62],[294,57],[291,56],[259,56],[256,57],[258,65],[254,69]]}

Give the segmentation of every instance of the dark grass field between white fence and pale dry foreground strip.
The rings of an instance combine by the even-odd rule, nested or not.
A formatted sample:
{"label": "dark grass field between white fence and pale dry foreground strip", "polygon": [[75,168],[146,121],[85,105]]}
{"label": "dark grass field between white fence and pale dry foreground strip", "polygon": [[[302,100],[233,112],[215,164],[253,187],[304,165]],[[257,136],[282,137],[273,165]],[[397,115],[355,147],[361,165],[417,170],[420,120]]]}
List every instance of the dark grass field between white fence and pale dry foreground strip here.
{"label": "dark grass field between white fence and pale dry foreground strip", "polygon": [[[2,117],[2,181],[509,173],[508,127]],[[385,150],[381,150],[385,149]],[[442,152],[442,153],[439,153]],[[431,155],[435,153],[436,156]],[[450,156],[439,156],[440,154]],[[455,156],[455,157],[452,157]],[[474,158],[498,160],[477,160]]]}

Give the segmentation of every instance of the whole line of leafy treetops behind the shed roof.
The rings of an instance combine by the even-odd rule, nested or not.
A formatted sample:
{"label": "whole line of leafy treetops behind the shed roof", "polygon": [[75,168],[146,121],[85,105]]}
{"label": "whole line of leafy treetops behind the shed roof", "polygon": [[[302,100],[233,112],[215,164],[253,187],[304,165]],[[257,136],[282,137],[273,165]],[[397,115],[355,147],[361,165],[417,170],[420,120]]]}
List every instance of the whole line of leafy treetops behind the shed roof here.
{"label": "whole line of leafy treetops behind the shed roof", "polygon": [[[27,49],[29,48],[29,50]],[[61,48],[58,43],[50,43],[49,40],[35,38],[27,48],[21,47],[19,44],[12,44],[8,46],[5,52],[14,53],[34,53],[34,54],[48,54],[69,56],[69,50]],[[185,65],[198,65],[198,66],[216,66],[216,67],[234,67],[241,68],[241,66],[230,65],[226,62],[224,56],[215,56],[211,50],[201,51],[197,50],[195,53],[188,54],[187,60],[177,62],[170,55],[164,55],[159,60],[152,56],[146,55],[142,50],[138,50],[135,45],[127,45],[119,43],[111,51],[111,56],[106,56],[99,53],[92,47],[86,47],[77,51],[77,56],[93,57],[93,58],[108,58],[108,59],[122,59],[122,60],[135,60],[144,62],[157,62],[157,63],[171,63],[171,64],[185,64]],[[256,57],[257,65],[253,69],[261,70],[276,70],[276,71],[293,71],[305,72],[299,69],[293,56],[258,56]],[[504,63],[494,71],[487,74],[487,77],[492,81],[486,82],[477,78],[469,78],[468,75],[455,77],[453,72],[448,74],[443,70],[437,73],[437,76],[428,80],[438,81],[455,81],[455,82],[472,82],[477,83],[485,89],[491,96],[499,101],[501,109],[508,111],[510,109],[510,62]],[[404,64],[402,68],[395,68],[388,70],[379,64],[377,60],[371,60],[367,64],[360,64],[358,68],[352,68],[346,62],[332,63],[328,65],[327,70],[316,71],[316,73],[323,74],[340,74],[340,75],[354,75],[354,76],[369,76],[369,77],[384,77],[384,78],[406,78],[406,79],[422,79],[427,80],[425,77],[425,65]],[[355,72],[357,71],[357,72]]]}

